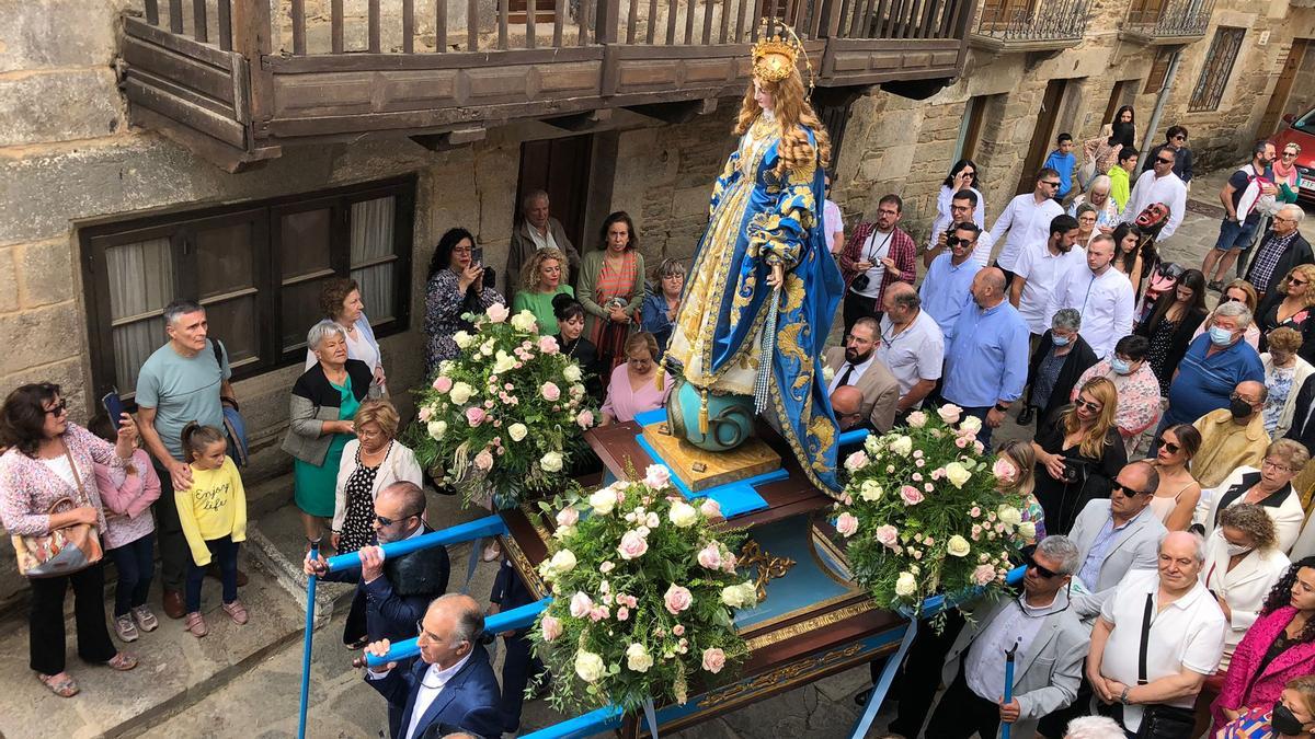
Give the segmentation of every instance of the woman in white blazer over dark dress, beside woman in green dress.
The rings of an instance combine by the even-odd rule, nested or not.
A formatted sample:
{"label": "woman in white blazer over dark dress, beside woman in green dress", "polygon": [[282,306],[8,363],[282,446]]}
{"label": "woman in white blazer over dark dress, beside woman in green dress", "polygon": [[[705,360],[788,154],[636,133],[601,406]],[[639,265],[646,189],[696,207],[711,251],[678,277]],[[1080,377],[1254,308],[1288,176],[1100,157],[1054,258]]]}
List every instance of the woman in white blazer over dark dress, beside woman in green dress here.
{"label": "woman in white blazer over dark dress, beside woman in green dress", "polygon": [[356,438],[342,450],[333,514],[333,547],[354,552],[375,538],[375,498],[398,481],[423,487],[416,454],[397,441],[397,409],[387,400],[367,400],[356,410]]}

